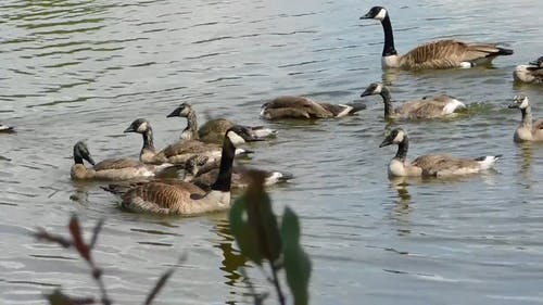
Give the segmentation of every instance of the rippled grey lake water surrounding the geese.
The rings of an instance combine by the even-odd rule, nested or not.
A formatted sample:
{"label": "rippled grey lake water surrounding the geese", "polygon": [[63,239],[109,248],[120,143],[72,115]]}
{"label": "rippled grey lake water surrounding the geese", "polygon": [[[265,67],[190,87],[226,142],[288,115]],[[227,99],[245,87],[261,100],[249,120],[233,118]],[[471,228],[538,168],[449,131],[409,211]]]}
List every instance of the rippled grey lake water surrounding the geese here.
{"label": "rippled grey lake water surrounding the geese", "polygon": [[[121,211],[98,183],[70,179],[72,148],[86,140],[94,160],[137,157],[125,135],[147,117],[159,148],[200,114],[279,130],[251,145],[247,164],[289,170],[269,189],[275,209],[300,216],[314,270],[312,304],[543,303],[543,145],[517,145],[520,114],[506,105],[528,94],[543,116],[543,89],[516,86],[517,64],[543,55],[543,1],[382,1],[396,49],[437,38],[501,42],[515,50],[491,68],[383,74],[381,26],[359,21],[368,1],[2,1],[0,4],[0,303],[45,304],[59,285],[97,292],[76,254],[36,242],[45,227],[67,233],[76,213],[89,231],[105,218],[97,257],[116,304],[144,300],[159,275],[180,263],[156,304],[251,304],[243,259],[226,214],[155,217]],[[267,123],[261,104],[305,94],[333,103],[358,99],[372,81],[405,101],[446,92],[470,103],[447,120],[388,124],[380,98],[344,119]],[[395,148],[386,130],[411,135],[409,157],[432,152],[503,154],[495,170],[447,180],[391,181]],[[268,302],[274,304],[274,302]]]}

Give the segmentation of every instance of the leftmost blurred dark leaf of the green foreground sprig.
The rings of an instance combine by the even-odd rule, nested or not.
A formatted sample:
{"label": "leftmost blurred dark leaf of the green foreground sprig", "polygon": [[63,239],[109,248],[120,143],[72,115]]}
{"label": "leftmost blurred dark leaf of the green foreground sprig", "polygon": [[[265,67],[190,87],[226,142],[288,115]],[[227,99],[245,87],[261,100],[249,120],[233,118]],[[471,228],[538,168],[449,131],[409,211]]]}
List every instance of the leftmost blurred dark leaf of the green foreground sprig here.
{"label": "leftmost blurred dark leaf of the green foreground sprig", "polygon": [[256,230],[249,225],[245,195],[238,198],[230,207],[230,231],[241,251],[249,259],[261,265],[262,252],[258,250]]}

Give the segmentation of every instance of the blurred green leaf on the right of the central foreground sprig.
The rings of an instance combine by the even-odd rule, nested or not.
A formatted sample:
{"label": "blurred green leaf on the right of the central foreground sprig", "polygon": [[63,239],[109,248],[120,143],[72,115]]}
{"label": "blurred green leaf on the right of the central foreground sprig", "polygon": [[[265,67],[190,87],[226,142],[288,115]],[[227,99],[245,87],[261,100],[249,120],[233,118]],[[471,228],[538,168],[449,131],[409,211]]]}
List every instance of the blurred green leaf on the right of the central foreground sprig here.
{"label": "blurred green leaf on the right of the central foreground sprig", "polygon": [[295,305],[307,305],[311,277],[311,259],[300,245],[300,224],[296,214],[285,208],[281,223],[283,267],[287,283]]}

